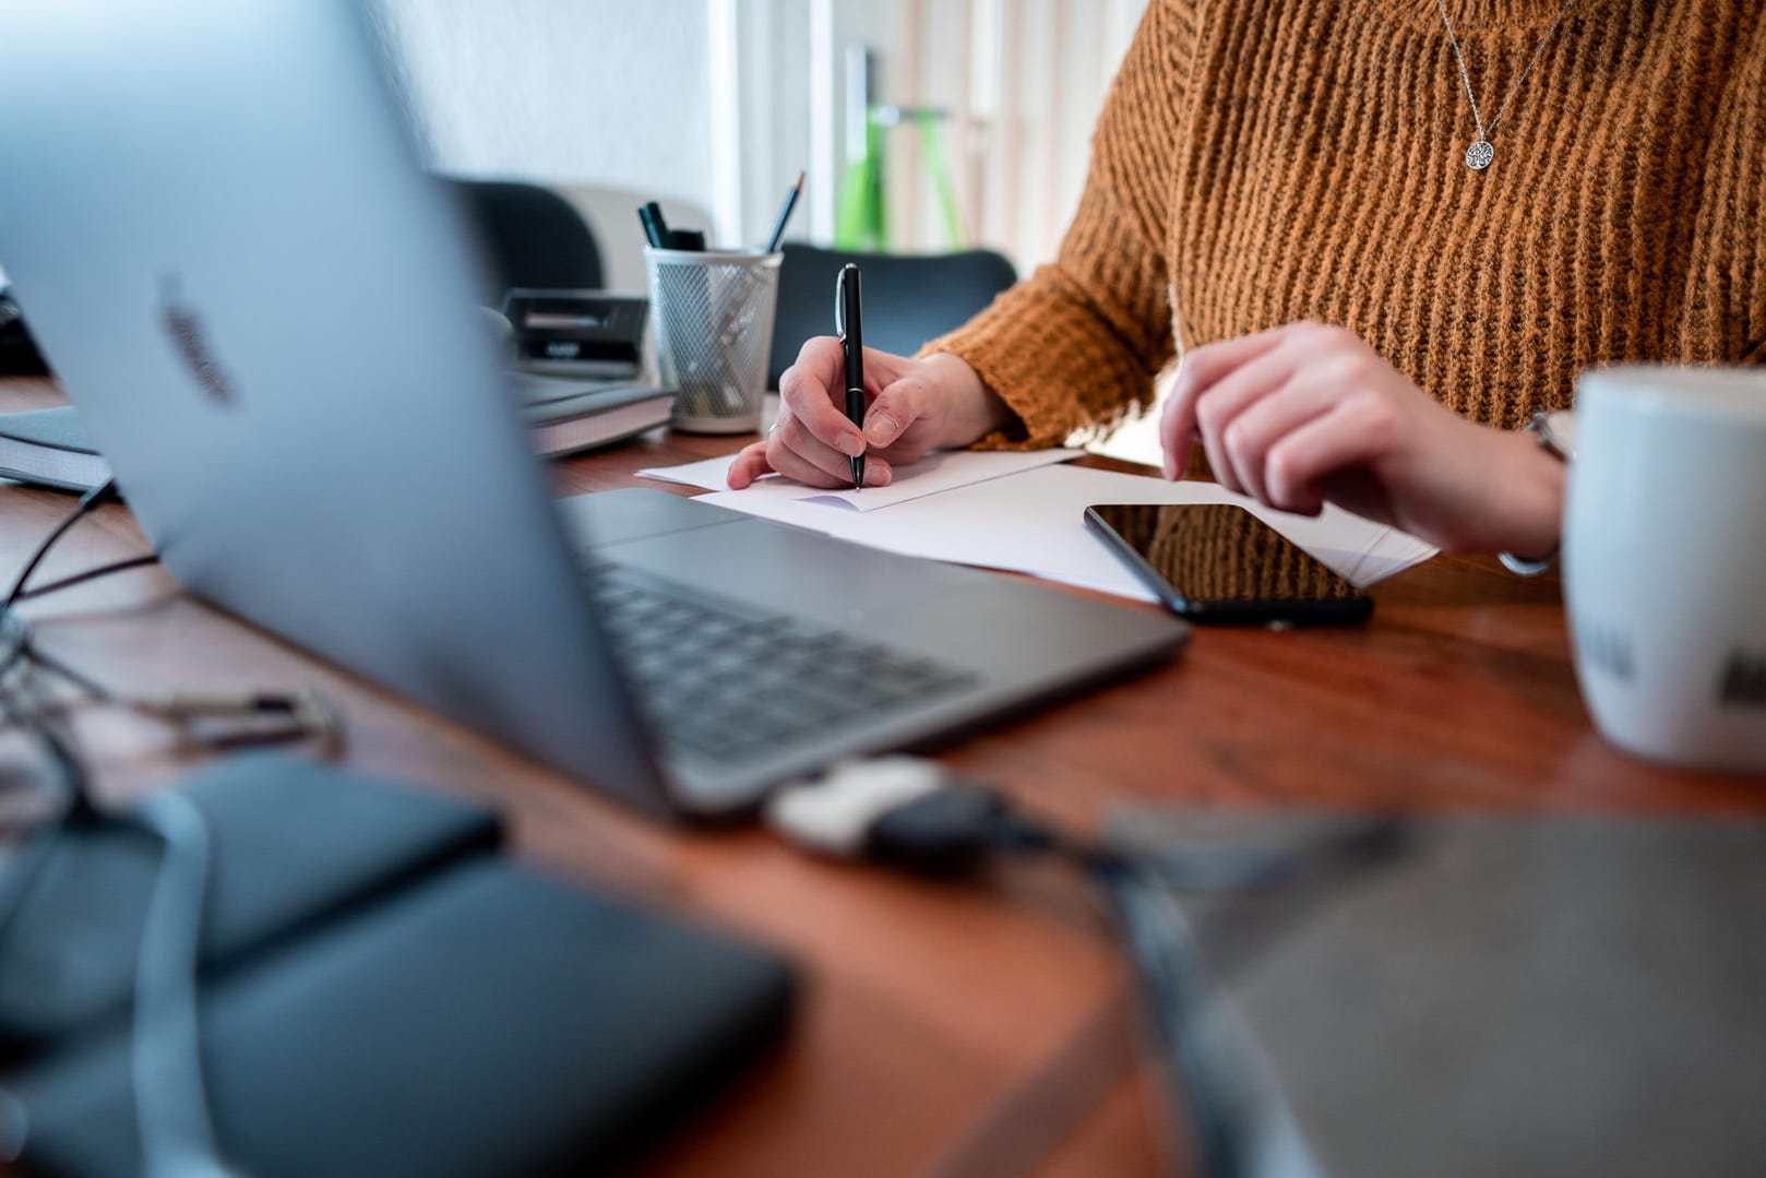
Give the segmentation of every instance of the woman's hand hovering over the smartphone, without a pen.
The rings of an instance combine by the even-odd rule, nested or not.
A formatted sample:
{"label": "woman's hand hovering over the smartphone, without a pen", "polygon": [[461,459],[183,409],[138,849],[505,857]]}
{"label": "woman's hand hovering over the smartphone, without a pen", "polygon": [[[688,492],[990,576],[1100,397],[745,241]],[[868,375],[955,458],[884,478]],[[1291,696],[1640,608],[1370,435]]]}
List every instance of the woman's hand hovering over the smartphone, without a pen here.
{"label": "woman's hand hovering over the smartphone, without a pen", "polygon": [[1215,479],[1280,510],[1326,502],[1459,551],[1558,546],[1563,464],[1475,426],[1355,332],[1291,323],[1197,348],[1166,401],[1166,477],[1201,438]]}

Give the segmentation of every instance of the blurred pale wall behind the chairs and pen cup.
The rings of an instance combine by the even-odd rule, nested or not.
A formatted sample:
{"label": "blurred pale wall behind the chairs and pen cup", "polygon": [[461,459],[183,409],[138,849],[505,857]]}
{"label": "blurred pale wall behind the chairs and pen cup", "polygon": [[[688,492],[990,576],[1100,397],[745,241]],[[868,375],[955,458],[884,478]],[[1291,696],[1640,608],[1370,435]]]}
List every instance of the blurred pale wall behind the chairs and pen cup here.
{"label": "blurred pale wall behind the chairs and pen cup", "polygon": [[[1021,270],[1077,203],[1090,129],[1144,0],[378,0],[434,164],[600,184],[703,208],[758,244],[786,185],[826,238],[844,168],[844,51],[879,99],[952,111],[971,240]],[[895,247],[941,249],[917,147],[892,136]]]}

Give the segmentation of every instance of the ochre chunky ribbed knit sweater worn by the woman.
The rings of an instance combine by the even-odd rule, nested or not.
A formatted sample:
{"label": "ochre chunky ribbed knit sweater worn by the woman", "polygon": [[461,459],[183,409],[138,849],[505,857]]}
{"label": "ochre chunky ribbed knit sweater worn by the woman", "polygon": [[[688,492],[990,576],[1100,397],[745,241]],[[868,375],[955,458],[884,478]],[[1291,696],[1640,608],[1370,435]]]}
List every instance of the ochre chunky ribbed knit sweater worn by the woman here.
{"label": "ochre chunky ribbed knit sweater worn by the woman", "polygon": [[[1489,122],[1561,0],[1448,0]],[[1766,4],[1575,0],[1471,171],[1436,0],[1151,0],[1053,265],[936,341],[1051,445],[1323,320],[1515,427],[1616,360],[1766,362]]]}

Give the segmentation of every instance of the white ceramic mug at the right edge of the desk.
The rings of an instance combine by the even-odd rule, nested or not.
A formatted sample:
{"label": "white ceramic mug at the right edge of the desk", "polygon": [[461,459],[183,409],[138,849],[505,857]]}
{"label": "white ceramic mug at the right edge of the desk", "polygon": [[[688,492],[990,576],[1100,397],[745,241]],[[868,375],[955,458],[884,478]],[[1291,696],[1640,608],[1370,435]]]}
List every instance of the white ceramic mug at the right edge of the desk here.
{"label": "white ceramic mug at the right edge of the desk", "polygon": [[1582,374],[1563,583],[1607,740],[1766,774],[1766,371]]}

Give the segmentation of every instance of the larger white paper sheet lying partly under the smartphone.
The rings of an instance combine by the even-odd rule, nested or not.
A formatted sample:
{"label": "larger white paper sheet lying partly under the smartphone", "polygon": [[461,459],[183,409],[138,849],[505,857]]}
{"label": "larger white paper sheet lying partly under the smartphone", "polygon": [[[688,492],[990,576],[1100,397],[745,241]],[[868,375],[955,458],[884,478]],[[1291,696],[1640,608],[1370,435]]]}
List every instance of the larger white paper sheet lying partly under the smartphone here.
{"label": "larger white paper sheet lying partly under the smartphone", "polygon": [[1238,503],[1356,585],[1372,585],[1434,555],[1411,535],[1335,507],[1319,517],[1289,516],[1213,482],[1166,482],[1086,466],[1042,466],[887,510],[855,512],[752,489],[721,491],[705,502],[909,556],[1010,569],[1139,600],[1151,600],[1151,593],[1086,530],[1088,503]]}

